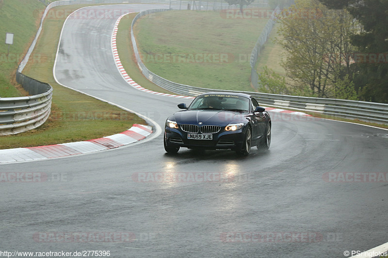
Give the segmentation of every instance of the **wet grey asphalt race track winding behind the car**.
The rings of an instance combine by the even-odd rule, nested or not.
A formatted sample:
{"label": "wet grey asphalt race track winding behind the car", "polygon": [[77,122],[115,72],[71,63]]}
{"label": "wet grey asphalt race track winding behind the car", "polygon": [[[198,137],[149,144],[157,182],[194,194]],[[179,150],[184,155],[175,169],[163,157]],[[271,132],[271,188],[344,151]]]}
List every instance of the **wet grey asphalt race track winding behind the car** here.
{"label": "wet grey asphalt race track winding behind the car", "polygon": [[[138,91],[124,81],[110,46],[116,18],[67,20],[57,80],[163,127],[177,104],[190,101]],[[387,180],[325,177],[387,173],[387,131],[270,114],[271,149],[253,148],[248,157],[187,149],[169,155],[159,135],[111,151],[1,165],[1,172],[48,179],[1,183],[1,249],[109,250],[110,257],[344,257],[345,250],[388,242]],[[205,172],[211,174],[202,182]],[[187,180],[171,179],[177,174]]]}

